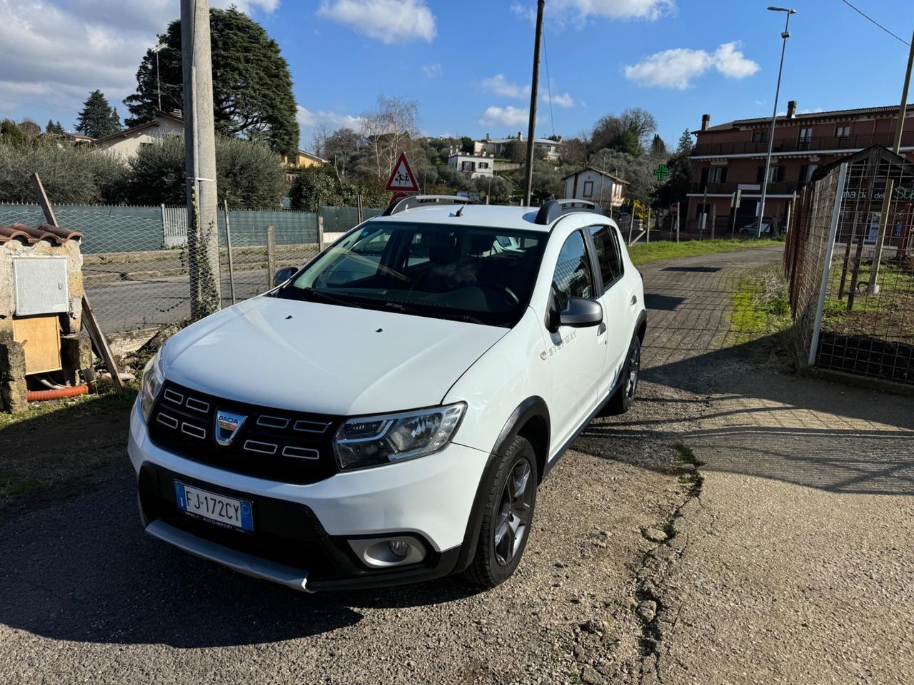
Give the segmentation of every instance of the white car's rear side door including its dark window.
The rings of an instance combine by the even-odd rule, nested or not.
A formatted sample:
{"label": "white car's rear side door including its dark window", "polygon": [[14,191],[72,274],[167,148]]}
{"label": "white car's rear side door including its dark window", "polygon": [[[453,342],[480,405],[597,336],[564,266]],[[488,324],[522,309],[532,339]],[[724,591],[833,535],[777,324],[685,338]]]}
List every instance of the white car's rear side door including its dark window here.
{"label": "white car's rear side door including its dark window", "polygon": [[600,292],[594,297],[603,305],[603,316],[608,328],[606,341],[606,372],[603,396],[615,385],[625,354],[632,342],[632,294],[625,287],[625,267],[622,261],[619,231],[609,225],[591,226],[590,238],[600,271]]}

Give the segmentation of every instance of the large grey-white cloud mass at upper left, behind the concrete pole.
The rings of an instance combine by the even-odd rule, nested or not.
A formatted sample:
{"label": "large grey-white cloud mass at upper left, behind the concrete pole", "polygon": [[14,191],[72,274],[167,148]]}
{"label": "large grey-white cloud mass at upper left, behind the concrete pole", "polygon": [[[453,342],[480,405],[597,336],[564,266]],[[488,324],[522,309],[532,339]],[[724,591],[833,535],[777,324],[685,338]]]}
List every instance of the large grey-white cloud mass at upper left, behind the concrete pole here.
{"label": "large grey-white cloud mass at upper left, behind the concrete pole", "polygon": [[[235,5],[271,12],[279,0]],[[136,90],[146,48],[179,14],[174,0],[0,0],[0,113],[48,112],[71,128],[83,100],[99,89],[123,116],[121,100]]]}

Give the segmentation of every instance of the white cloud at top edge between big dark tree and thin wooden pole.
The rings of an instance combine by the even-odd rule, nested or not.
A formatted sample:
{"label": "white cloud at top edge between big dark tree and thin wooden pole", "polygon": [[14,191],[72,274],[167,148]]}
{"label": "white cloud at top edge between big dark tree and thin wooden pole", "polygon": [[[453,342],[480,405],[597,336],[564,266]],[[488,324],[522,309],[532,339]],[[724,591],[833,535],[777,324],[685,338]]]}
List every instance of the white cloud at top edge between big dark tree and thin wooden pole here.
{"label": "white cloud at top edge between big dark tree and thin wooden pole", "polygon": [[425,0],[323,0],[317,14],[388,45],[431,41],[437,33]]}

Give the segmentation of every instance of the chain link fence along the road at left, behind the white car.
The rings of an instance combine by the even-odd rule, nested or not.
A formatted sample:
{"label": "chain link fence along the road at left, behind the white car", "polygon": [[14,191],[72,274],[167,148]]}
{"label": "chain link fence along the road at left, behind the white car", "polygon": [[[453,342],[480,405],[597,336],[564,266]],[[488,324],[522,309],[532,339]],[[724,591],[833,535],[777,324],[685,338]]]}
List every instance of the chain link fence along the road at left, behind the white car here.
{"label": "chain link fence along the road at left, behind the white car", "polygon": [[[363,210],[363,218],[382,209]],[[54,205],[61,227],[83,234],[83,284],[106,333],[190,318],[186,207]],[[335,235],[355,227],[355,207],[318,212],[218,212],[222,306],[272,287],[272,274],[300,267]],[[0,226],[45,223],[38,205],[0,204]]]}

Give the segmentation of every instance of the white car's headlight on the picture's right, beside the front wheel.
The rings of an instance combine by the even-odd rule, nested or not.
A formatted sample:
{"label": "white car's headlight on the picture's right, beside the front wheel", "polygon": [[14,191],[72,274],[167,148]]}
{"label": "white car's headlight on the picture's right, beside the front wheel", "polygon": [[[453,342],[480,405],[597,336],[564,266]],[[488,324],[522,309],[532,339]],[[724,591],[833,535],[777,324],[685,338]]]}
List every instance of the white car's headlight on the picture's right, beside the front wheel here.
{"label": "white car's headlight on the picture's right, beside the front wheel", "polygon": [[402,414],[359,416],[347,420],[334,438],[340,469],[364,469],[424,457],[451,441],[466,404],[436,406]]}

